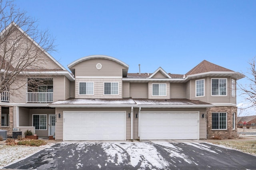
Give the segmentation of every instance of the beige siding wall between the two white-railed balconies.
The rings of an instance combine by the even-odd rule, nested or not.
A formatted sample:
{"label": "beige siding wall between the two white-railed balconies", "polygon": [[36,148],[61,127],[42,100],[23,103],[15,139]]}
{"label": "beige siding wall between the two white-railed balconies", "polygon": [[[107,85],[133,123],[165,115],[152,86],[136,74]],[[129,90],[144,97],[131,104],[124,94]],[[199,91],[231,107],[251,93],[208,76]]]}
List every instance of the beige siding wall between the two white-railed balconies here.
{"label": "beige siding wall between the two white-railed balconies", "polygon": [[26,103],[27,82],[26,77],[19,76],[16,78],[10,88],[10,102]]}

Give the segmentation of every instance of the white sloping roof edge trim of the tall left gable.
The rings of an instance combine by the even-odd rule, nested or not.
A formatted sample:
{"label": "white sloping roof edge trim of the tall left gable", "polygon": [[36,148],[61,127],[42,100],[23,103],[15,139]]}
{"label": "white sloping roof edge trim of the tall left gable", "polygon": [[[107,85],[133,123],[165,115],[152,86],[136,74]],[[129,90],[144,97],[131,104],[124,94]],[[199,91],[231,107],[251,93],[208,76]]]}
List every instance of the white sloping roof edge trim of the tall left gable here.
{"label": "white sloping roof edge trim of the tall left gable", "polygon": [[18,30],[20,30],[28,39],[30,39],[30,41],[32,41],[32,43],[34,43],[34,45],[36,45],[38,48],[40,48],[50,59],[52,59],[52,61],[54,61],[54,63],[56,63],[58,66],[60,66],[60,68],[62,68],[63,70],[67,70],[64,66],[62,66],[56,59],[54,59],[47,51],[45,51],[36,41],[34,41],[34,39],[32,39],[27,33],[25,33],[25,31],[19,27],[14,21],[12,21],[1,33],[0,35],[3,35],[4,32],[6,30],[8,30],[12,25],[14,25],[16,28],[18,28]]}

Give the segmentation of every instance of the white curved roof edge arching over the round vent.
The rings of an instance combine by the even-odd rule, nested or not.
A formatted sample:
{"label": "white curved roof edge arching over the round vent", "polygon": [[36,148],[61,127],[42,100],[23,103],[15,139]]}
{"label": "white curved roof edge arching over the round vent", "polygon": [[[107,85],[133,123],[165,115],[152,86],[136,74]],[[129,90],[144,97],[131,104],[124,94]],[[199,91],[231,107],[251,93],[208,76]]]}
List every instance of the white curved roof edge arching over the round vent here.
{"label": "white curved roof edge arching over the round vent", "polygon": [[116,59],[114,57],[110,57],[108,55],[89,55],[89,56],[85,56],[85,57],[82,57],[82,58],[68,64],[68,68],[71,68],[72,66],[74,66],[74,65],[76,65],[76,64],[78,64],[82,61],[89,60],[89,59],[109,59],[109,60],[115,61],[115,62],[125,66],[126,68],[129,68],[128,64],[126,64],[126,63],[122,62],[121,60]]}

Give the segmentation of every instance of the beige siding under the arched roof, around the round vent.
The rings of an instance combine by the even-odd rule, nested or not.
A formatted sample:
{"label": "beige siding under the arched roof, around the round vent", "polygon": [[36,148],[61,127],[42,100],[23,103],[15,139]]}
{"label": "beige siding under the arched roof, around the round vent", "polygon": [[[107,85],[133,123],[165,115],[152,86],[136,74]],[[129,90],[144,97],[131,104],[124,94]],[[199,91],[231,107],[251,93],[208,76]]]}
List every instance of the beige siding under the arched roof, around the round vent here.
{"label": "beige siding under the arched roof, around the round vent", "polygon": [[[96,64],[102,64],[98,70]],[[89,59],[74,65],[70,69],[76,69],[75,76],[122,76],[125,67],[108,59]]]}

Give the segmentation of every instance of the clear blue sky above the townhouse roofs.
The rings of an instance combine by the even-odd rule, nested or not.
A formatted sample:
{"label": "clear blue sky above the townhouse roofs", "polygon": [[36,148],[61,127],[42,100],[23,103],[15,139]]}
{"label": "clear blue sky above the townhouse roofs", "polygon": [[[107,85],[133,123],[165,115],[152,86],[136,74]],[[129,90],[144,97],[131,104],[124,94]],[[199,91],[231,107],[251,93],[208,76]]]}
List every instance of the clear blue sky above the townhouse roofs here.
{"label": "clear blue sky above the townhouse roofs", "polygon": [[[109,55],[129,71],[185,74],[203,60],[248,71],[256,56],[255,0],[14,0],[49,29],[64,67]],[[246,83],[239,80],[238,83]],[[238,97],[238,102],[242,99]]]}

